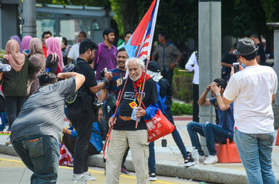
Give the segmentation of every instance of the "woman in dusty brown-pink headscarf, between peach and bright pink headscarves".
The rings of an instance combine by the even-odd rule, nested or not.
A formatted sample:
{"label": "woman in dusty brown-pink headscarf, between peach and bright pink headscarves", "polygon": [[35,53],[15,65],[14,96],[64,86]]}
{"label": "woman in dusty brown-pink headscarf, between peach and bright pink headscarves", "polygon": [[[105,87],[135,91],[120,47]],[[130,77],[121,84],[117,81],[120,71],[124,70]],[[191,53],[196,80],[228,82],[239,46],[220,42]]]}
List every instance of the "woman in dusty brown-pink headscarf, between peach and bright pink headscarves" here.
{"label": "woman in dusty brown-pink headscarf, between peach and bright pink headscarves", "polygon": [[29,93],[30,96],[31,94],[33,94],[33,92],[36,92],[36,90],[38,90],[39,79],[37,78],[37,76],[45,72],[45,56],[43,54],[42,41],[40,41],[38,37],[34,37],[31,39],[29,48],[30,48],[29,60],[33,62],[33,64],[37,68],[36,70],[38,71],[34,74],[35,78],[33,79],[33,81],[29,81],[29,83],[32,83],[30,93]]}

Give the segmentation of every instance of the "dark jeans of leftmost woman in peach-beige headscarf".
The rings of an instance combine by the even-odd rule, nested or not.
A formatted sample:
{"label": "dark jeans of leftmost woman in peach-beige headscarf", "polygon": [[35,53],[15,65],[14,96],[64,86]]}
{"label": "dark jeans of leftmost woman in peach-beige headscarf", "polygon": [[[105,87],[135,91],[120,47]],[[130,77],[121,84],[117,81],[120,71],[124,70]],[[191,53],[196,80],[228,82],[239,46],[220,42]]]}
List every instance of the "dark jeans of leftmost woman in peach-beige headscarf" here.
{"label": "dark jeans of leftmost woman in peach-beige headscarf", "polygon": [[27,97],[10,97],[6,96],[6,113],[8,117],[8,124],[12,127],[15,118],[20,114],[20,109]]}

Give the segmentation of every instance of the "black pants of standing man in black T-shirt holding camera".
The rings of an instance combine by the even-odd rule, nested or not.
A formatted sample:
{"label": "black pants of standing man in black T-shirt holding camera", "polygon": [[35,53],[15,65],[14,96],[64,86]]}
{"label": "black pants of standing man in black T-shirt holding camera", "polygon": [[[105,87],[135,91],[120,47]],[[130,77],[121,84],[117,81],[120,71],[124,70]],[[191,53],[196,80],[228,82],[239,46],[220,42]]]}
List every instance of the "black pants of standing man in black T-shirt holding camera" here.
{"label": "black pants of standing man in black T-shirt holding camera", "polygon": [[77,131],[77,141],[74,149],[74,174],[82,174],[88,171],[88,145],[95,113],[90,106],[87,107],[87,110],[82,110],[80,106],[68,106],[67,114]]}

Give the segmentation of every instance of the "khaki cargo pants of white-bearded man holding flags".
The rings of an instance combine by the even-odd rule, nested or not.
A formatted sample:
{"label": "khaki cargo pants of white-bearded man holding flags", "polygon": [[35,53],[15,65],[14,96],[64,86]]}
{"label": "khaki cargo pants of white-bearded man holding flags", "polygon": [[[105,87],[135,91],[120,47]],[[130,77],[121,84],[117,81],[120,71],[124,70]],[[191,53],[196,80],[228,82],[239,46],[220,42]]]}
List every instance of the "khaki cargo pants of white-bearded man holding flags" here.
{"label": "khaki cargo pants of white-bearded man holding flags", "polygon": [[123,155],[130,147],[138,184],[149,183],[147,131],[112,131],[107,151],[105,184],[119,183]]}

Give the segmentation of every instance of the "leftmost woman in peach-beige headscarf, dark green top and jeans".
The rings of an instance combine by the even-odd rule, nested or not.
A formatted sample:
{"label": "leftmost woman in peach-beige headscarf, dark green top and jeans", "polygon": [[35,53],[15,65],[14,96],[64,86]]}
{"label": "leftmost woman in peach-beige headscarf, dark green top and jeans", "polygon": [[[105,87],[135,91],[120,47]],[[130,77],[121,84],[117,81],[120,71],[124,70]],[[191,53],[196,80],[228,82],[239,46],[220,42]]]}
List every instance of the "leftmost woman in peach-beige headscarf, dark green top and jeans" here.
{"label": "leftmost woman in peach-beige headscarf, dark green top and jeans", "polygon": [[6,44],[6,54],[3,64],[9,64],[12,69],[2,77],[3,94],[6,99],[6,113],[9,127],[19,115],[20,109],[27,98],[28,78],[36,72],[36,67],[27,56],[20,53],[17,41],[9,40]]}

